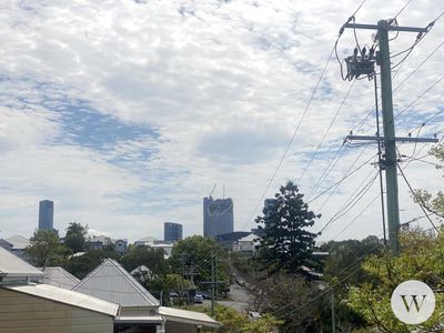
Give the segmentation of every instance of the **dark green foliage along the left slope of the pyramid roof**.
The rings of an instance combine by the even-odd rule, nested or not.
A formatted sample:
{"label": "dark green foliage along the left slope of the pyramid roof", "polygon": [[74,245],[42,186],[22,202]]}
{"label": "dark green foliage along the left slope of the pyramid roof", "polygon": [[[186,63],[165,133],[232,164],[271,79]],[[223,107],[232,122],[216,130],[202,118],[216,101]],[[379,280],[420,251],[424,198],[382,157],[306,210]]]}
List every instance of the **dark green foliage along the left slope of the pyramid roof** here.
{"label": "dark green foliage along the left slope of the pyramid roof", "polygon": [[81,280],[107,258],[118,260],[119,254],[112,246],[105,246],[103,250],[91,250],[81,256],[71,256],[64,268],[68,272]]}

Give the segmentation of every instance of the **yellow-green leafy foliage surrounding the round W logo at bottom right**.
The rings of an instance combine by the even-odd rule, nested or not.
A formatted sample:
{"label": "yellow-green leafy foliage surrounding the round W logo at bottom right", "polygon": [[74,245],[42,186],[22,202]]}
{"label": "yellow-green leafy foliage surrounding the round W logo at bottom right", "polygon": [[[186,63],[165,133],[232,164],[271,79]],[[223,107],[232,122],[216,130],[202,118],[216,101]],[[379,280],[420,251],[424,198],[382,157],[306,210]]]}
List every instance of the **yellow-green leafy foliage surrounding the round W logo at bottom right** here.
{"label": "yellow-green leafy foliage surrounding the round W logo at bottom right", "polygon": [[420,280],[432,289],[443,289],[444,235],[440,233],[435,238],[430,233],[413,231],[402,234],[401,244],[402,252],[397,256],[384,251],[365,260],[362,268],[369,278],[351,287],[349,305],[382,332],[438,332],[440,316],[444,313],[442,294],[435,294],[434,315],[417,326],[403,324],[393,315],[390,297],[393,290],[406,280]]}

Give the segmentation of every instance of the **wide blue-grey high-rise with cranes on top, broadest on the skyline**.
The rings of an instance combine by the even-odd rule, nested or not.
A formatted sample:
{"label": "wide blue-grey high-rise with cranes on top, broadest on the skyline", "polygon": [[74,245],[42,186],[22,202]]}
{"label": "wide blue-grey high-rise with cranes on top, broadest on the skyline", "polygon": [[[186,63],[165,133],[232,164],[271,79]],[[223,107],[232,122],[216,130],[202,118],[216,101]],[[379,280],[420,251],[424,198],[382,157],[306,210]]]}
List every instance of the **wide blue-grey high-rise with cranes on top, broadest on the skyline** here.
{"label": "wide blue-grey high-rise with cranes on top, broadest on the skyline", "polygon": [[234,230],[233,200],[203,198],[203,235],[214,239]]}

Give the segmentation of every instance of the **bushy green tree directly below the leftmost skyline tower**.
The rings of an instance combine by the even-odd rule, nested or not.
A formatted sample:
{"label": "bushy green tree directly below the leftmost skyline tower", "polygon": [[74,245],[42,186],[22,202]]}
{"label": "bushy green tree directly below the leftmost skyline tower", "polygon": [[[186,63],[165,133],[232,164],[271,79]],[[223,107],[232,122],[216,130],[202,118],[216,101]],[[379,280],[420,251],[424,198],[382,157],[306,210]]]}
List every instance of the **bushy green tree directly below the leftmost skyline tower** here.
{"label": "bushy green tree directly below the leftmost skyline tower", "polygon": [[37,230],[30,239],[26,253],[36,266],[63,265],[70,249],[60,244],[53,231]]}

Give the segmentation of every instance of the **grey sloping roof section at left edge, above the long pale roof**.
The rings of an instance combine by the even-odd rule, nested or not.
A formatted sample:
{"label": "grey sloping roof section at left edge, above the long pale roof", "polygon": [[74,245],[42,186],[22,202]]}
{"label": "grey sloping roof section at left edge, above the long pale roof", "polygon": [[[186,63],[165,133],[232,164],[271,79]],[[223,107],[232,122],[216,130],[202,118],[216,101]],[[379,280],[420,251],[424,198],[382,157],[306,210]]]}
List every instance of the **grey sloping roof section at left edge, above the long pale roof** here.
{"label": "grey sloping roof section at left edge, above the long pale roof", "polygon": [[0,246],[0,276],[40,278],[43,276],[43,273]]}

